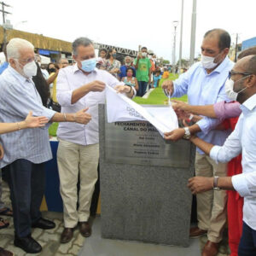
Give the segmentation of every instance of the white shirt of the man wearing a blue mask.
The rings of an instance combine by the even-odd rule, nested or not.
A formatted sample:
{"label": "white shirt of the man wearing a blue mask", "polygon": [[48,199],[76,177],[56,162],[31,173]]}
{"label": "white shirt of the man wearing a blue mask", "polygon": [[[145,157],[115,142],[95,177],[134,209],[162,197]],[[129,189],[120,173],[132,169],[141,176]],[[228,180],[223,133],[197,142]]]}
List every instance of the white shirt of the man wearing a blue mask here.
{"label": "white shirt of the man wearing a blue mask", "polygon": [[[89,108],[87,113],[91,114],[91,120],[87,125],[77,123],[60,123],[57,137],[71,143],[90,145],[99,142],[98,135],[98,104],[105,103],[105,90],[90,91],[78,102],[72,104],[73,90],[94,80],[100,80],[111,87],[124,84],[115,79],[113,75],[105,70],[95,71],[85,75],[76,65],[61,68],[57,77],[57,100],[61,105],[62,113],[75,113],[81,109]],[[118,108],[118,106],[117,106]]]}

